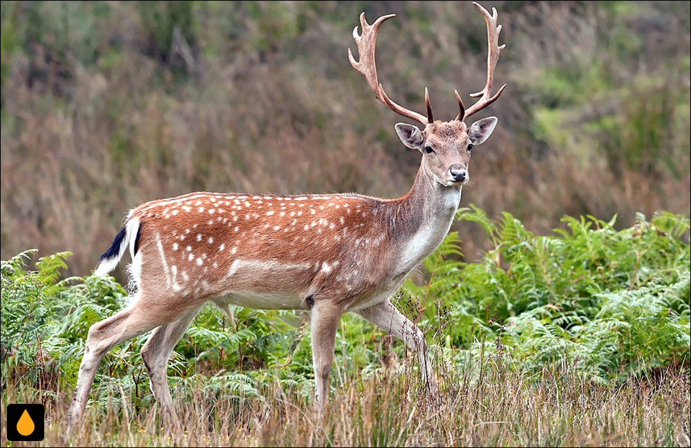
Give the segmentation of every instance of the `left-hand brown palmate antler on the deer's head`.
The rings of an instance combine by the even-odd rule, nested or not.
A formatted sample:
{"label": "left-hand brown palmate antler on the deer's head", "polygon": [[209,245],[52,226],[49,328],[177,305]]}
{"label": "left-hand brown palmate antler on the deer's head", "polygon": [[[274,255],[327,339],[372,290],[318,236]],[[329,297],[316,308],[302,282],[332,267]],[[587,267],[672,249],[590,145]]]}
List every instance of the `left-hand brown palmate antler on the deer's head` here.
{"label": "left-hand brown palmate antler on the deer's head", "polygon": [[[388,14],[386,16],[381,16],[379,17],[379,19],[375,20],[375,23],[369,25],[365,20],[365,13],[363,12],[362,14],[360,14],[362,34],[357,34],[357,26],[352,30],[352,37],[353,39],[355,39],[355,43],[357,44],[357,52],[360,60],[355,61],[355,58],[352,56],[352,51],[350,51],[350,48],[348,48],[348,60],[350,60],[350,65],[352,65],[352,67],[355,70],[360,72],[361,75],[365,77],[365,79],[367,80],[367,84],[370,85],[372,92],[374,92],[375,97],[379,99],[379,101],[386,104],[388,108],[390,108],[399,115],[403,115],[404,117],[414,119],[415,121],[419,121],[422,124],[427,124],[428,118],[424,117],[424,115],[421,115],[417,112],[413,112],[413,110],[409,110],[402,106],[399,106],[394,101],[392,101],[388,97],[388,95],[386,95],[386,92],[384,92],[384,88],[381,87],[381,84],[379,84],[379,80],[377,79],[377,66],[375,65],[375,45],[377,43],[377,31],[379,30],[379,26],[381,26],[381,23],[395,16],[396,14]],[[428,116],[431,117],[431,110],[429,108],[428,111]]]}

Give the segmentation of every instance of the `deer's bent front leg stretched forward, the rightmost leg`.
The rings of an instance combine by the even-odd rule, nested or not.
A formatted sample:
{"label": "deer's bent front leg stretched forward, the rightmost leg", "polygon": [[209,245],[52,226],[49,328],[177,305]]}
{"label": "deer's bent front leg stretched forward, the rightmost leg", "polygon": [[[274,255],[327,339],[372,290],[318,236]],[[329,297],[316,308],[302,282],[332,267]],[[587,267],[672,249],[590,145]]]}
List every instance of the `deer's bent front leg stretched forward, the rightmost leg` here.
{"label": "deer's bent front leg stretched forward, the rightmost leg", "polygon": [[405,342],[410,349],[417,353],[417,360],[420,363],[420,372],[422,373],[422,382],[424,382],[425,386],[428,387],[432,393],[436,394],[438,391],[437,381],[432,373],[432,364],[430,364],[427,344],[422,331],[398,311],[390,300],[357,311],[357,314],[372,322],[372,324],[377,325],[377,327],[390,335],[399,338]]}

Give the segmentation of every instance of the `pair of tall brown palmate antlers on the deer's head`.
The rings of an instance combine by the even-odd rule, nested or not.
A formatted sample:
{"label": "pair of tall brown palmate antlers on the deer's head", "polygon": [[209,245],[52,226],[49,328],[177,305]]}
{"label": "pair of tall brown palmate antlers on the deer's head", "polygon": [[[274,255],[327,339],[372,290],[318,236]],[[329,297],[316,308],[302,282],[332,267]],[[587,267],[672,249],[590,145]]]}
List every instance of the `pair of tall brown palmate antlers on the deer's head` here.
{"label": "pair of tall brown palmate antlers on the deer's head", "polygon": [[[489,50],[487,55],[487,83],[484,86],[484,89],[482,89],[480,92],[473,93],[471,95],[471,97],[480,97],[480,99],[477,100],[477,102],[473,104],[473,106],[471,106],[468,110],[465,110],[463,106],[463,100],[461,99],[460,95],[458,95],[458,92],[455,91],[458,106],[460,108],[460,113],[458,114],[456,119],[461,121],[466,119],[466,117],[470,117],[478,110],[481,110],[486,106],[492,104],[499,97],[499,95],[502,94],[504,88],[507,86],[506,84],[504,84],[504,86],[502,86],[502,88],[500,88],[498,92],[495,93],[494,96],[492,96],[492,81],[494,78],[494,69],[497,66],[497,61],[499,60],[499,52],[502,50],[502,48],[506,46],[498,46],[499,34],[502,31],[502,26],[497,25],[497,10],[495,8],[492,8],[493,15],[490,15],[489,12],[487,12],[486,9],[482,8],[482,6],[480,6],[478,3],[473,2],[473,4],[477,7],[478,10],[480,10],[482,15],[484,16],[485,21],[487,22],[487,39],[489,41]],[[379,26],[381,26],[381,23],[395,16],[396,14],[388,14],[386,16],[381,16],[379,17],[379,19],[375,21],[375,23],[372,23],[372,25],[370,25],[365,20],[365,13],[363,12],[362,14],[360,14],[362,34],[358,35],[357,26],[352,30],[352,37],[353,39],[355,39],[355,43],[357,44],[357,52],[360,60],[355,61],[355,58],[352,56],[352,52],[350,51],[350,48],[348,48],[348,59],[350,59],[350,64],[353,66],[353,68],[360,72],[365,77],[365,79],[367,79],[367,83],[370,85],[370,88],[372,89],[372,92],[374,92],[375,97],[379,99],[379,101],[384,103],[386,106],[388,106],[388,108],[390,108],[399,115],[403,115],[404,117],[408,117],[410,119],[414,119],[415,121],[419,121],[419,123],[432,123],[434,121],[434,118],[432,115],[432,106],[430,106],[430,99],[427,88],[425,88],[425,105],[427,108],[427,117],[424,117],[424,115],[419,114],[413,110],[406,109],[402,106],[399,106],[399,104],[396,104],[394,101],[392,101],[392,99],[390,99],[388,95],[386,95],[386,92],[384,92],[384,88],[381,86],[381,84],[379,84],[379,79],[377,79],[377,66],[375,64],[375,46],[377,43],[377,32],[379,31]]]}

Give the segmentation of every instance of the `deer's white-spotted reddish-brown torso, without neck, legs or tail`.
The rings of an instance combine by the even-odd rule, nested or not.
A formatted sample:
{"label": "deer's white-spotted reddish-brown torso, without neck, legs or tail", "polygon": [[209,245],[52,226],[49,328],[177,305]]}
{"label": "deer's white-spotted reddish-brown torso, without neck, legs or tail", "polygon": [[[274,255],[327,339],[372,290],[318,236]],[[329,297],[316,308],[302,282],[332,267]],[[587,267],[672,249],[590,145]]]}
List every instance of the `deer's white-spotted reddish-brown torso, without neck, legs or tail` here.
{"label": "deer's white-spotted reddish-brown torso, without neck, legs or tail", "polygon": [[206,192],[147,202],[129,216],[140,222],[133,273],[149,291],[254,308],[372,300],[392,282],[386,205],[349,194]]}

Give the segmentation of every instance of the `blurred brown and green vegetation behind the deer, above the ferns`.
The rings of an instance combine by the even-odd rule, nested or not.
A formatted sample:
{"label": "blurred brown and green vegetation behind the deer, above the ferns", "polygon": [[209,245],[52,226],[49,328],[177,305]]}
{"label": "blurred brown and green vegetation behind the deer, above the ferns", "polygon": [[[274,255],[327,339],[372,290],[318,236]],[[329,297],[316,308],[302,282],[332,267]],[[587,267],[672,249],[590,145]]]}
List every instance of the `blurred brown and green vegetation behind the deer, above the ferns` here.
{"label": "blurred brown and green vegetation behind the deer, above the ferns", "polygon": [[[565,214],[688,217],[690,3],[483,5],[509,87],[462,205],[536,233]],[[86,275],[129,208],[189,191],[404,195],[419,153],[348,64],[361,11],[398,16],[377,56],[404,106],[428,86],[450,119],[454,88],[484,86],[471,3],[3,1],[2,259],[69,250]],[[480,225],[457,230],[467,257],[488,249]]]}

